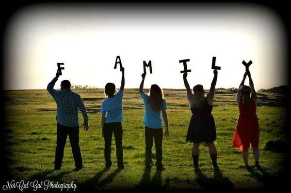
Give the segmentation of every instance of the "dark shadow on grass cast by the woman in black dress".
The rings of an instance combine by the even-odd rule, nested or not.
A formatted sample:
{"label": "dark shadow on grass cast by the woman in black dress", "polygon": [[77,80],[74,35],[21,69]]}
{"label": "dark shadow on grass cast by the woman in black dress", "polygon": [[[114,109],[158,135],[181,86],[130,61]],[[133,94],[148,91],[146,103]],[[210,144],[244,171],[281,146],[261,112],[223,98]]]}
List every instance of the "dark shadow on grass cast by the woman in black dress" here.
{"label": "dark shadow on grass cast by the woman in black dress", "polygon": [[224,177],[221,170],[214,171],[213,178],[208,178],[199,168],[194,170],[197,183],[202,189],[205,190],[215,190],[215,189],[224,189],[224,190],[233,190],[233,183],[229,178]]}

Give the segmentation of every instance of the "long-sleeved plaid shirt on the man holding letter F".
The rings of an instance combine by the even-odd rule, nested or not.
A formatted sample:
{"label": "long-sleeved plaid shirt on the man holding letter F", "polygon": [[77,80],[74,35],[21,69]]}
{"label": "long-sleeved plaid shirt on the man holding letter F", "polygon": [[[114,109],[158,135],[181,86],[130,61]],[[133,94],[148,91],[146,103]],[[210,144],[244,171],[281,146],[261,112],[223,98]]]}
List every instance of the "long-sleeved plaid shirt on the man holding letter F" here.
{"label": "long-sleeved plaid shirt on the man holding letter F", "polygon": [[78,108],[82,112],[84,123],[88,123],[87,109],[79,94],[72,92],[70,89],[55,90],[53,89],[57,78],[54,77],[48,85],[49,94],[57,103],[56,120],[63,126],[77,127],[79,125]]}

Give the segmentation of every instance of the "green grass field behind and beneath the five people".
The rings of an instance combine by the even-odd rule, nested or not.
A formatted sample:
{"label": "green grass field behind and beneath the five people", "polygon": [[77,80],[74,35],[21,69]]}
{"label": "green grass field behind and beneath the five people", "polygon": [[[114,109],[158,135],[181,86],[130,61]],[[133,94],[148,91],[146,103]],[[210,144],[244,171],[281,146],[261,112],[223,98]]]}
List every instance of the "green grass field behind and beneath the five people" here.
{"label": "green grass field behind and beneath the five people", "polygon": [[[97,190],[145,189],[253,189],[269,188],[279,179],[286,159],[267,142],[286,142],[287,129],[284,97],[279,94],[258,93],[260,125],[260,163],[263,170],[250,165],[243,167],[240,151],[231,147],[238,118],[235,92],[217,90],[212,114],[216,122],[218,164],[220,172],[213,172],[206,146],[200,147],[200,171],[194,171],[191,157],[192,144],[185,141],[191,111],[187,106],[185,90],[164,89],[169,119],[169,137],[163,138],[163,164],[165,170],[144,171],[145,136],[142,123],[144,105],[137,89],[125,89],[123,148],[124,170],[117,170],[113,140],[113,166],[104,169],[104,141],[100,126],[100,104],[104,99],[102,89],[74,90],[79,93],[88,109],[90,131],[80,129],[80,146],[84,169],[74,171],[74,161],[67,140],[61,171],[53,170],[56,147],[56,104],[47,90],[5,91],[5,144],[9,170],[14,179],[42,180],[77,183]],[[80,122],[82,116],[80,113]],[[272,150],[273,149],[273,150]],[[153,147],[153,157],[155,158]],[[155,159],[153,160],[155,163]],[[277,180],[279,181],[279,180]],[[272,183],[270,183],[272,182]],[[278,182],[279,183],[279,182]]]}

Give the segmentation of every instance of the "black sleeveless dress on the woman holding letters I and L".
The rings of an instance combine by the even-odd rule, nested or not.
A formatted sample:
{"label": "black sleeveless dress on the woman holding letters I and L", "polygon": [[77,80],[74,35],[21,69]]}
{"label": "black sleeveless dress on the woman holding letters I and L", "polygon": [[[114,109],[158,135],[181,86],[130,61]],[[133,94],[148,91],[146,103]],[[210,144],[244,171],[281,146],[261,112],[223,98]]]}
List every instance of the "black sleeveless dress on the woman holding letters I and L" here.
{"label": "black sleeveless dress on the woman holding letters I and L", "polygon": [[189,123],[186,141],[193,143],[210,143],[216,139],[216,128],[214,118],[211,115],[212,105],[207,98],[200,108],[191,108],[192,117]]}

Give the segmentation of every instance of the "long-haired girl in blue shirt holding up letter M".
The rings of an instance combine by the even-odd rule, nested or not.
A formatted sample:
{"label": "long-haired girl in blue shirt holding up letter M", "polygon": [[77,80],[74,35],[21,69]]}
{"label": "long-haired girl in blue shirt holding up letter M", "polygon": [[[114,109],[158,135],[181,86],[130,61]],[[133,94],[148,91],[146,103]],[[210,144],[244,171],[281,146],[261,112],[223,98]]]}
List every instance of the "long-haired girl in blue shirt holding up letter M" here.
{"label": "long-haired girl in blue shirt holding up letter M", "polygon": [[157,170],[162,170],[162,119],[164,120],[166,131],[169,136],[168,117],[166,113],[166,101],[163,99],[162,89],[158,85],[152,85],[149,95],[144,92],[144,81],[146,74],[142,74],[142,82],[139,88],[145,104],[145,115],[143,123],[146,125],[146,170],[151,169],[151,149],[153,139],[155,139]]}

